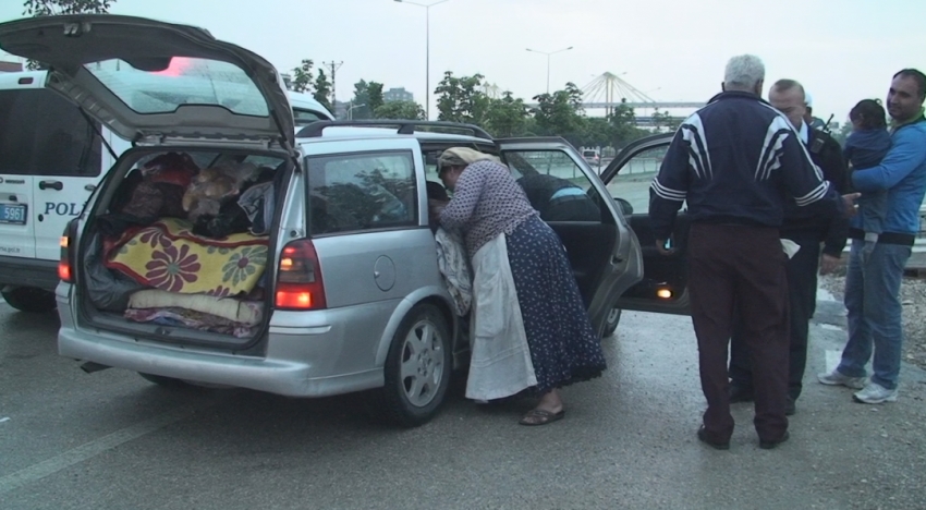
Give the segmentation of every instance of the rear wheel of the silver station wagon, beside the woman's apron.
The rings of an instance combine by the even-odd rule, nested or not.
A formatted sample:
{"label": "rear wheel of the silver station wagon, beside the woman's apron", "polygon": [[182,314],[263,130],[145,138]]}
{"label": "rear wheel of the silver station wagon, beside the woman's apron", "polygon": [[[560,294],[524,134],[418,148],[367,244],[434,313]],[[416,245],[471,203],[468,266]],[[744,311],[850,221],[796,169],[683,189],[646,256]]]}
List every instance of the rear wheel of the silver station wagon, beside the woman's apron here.
{"label": "rear wheel of the silver station wagon, beside the woman's apron", "polygon": [[402,320],[383,367],[386,385],[371,396],[371,416],[416,427],[437,415],[452,372],[452,338],[443,314],[419,304]]}

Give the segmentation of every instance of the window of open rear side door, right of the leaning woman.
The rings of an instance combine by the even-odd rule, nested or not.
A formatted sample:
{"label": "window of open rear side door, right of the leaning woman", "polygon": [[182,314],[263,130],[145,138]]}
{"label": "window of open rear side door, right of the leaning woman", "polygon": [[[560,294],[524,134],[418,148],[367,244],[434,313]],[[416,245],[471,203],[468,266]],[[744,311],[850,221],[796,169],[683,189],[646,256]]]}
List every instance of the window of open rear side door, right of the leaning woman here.
{"label": "window of open rear side door, right of the leaning woman", "polygon": [[601,221],[592,181],[562,150],[505,150],[504,161],[544,221]]}

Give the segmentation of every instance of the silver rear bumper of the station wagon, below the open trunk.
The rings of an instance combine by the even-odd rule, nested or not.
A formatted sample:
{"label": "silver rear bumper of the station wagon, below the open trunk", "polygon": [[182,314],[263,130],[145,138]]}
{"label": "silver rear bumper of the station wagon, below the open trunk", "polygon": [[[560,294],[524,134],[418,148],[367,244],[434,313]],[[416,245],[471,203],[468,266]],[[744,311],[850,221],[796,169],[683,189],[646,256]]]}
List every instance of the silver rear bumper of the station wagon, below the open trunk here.
{"label": "silver rear bumper of the station wagon, below the open trunk", "polygon": [[[266,354],[256,356],[78,328],[70,306],[71,286],[61,284],[57,294],[58,353],[65,357],[288,397],[329,397],[385,384],[382,366],[376,363],[379,337],[369,335],[375,313],[363,315],[356,308],[312,316],[277,312],[265,340]],[[367,333],[356,335],[354,326],[366,327]]]}

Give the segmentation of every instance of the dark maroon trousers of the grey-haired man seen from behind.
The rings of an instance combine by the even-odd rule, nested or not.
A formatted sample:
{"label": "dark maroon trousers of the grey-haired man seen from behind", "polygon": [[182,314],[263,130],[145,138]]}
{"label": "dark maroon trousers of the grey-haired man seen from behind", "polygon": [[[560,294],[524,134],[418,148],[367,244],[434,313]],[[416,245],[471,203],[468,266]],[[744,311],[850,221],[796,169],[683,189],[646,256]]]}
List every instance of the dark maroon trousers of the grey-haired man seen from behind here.
{"label": "dark maroon trousers of the grey-haired man seen from behind", "polygon": [[778,229],[694,223],[689,235],[692,324],[697,336],[700,384],[707,399],[704,428],[715,442],[733,434],[727,345],[734,307],[743,317],[759,439],[788,430],[788,282]]}

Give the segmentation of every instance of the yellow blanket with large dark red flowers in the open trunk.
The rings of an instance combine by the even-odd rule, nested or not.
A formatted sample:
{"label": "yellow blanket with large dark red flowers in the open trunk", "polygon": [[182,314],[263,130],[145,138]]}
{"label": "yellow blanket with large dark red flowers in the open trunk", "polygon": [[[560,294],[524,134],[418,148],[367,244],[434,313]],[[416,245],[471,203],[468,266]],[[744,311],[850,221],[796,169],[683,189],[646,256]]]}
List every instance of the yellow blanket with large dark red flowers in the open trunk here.
{"label": "yellow blanket with large dark red flowers in the open trunk", "polygon": [[249,233],[209,239],[193,224],[163,218],[126,230],[107,243],[106,266],[168,292],[216,296],[251,292],[267,265],[267,236]]}

